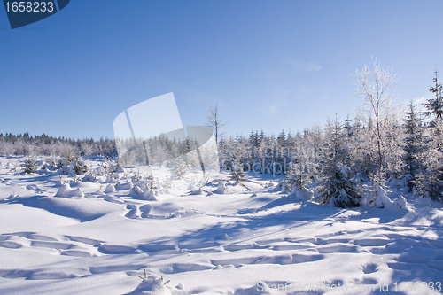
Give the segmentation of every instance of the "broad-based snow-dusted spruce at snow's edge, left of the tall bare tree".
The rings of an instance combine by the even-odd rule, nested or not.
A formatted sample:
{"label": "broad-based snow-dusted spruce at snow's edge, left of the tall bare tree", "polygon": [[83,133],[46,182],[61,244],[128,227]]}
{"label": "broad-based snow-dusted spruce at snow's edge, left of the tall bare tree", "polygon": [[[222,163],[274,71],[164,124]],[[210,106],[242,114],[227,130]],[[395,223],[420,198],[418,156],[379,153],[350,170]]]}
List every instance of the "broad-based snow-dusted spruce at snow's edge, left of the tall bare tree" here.
{"label": "broad-based snow-dusted spruce at snow's edge, left of the tall bare tree", "polygon": [[321,202],[343,208],[359,206],[361,195],[351,168],[346,166],[349,151],[338,119],[334,123],[328,122],[325,136],[324,167],[317,187]]}

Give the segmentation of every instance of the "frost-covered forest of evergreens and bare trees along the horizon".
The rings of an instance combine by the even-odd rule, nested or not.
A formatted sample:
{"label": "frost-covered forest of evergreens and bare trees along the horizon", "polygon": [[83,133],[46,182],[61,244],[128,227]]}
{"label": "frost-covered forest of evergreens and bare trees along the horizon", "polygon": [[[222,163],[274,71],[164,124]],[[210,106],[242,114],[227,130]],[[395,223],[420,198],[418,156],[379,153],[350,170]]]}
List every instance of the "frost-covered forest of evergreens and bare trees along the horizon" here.
{"label": "frost-covered forest of evergreens and bare trees along the horizon", "polygon": [[[377,59],[354,74],[362,98],[361,110],[353,118],[337,115],[325,126],[302,132],[266,135],[253,130],[249,136],[222,137],[223,122],[217,107],[206,117],[213,128],[221,170],[231,171],[241,181],[247,172],[280,175],[283,190],[307,190],[315,183],[323,204],[359,206],[365,190],[377,191],[387,181],[408,186],[415,195],[443,201],[443,96],[438,71],[430,97],[424,105],[413,101],[407,109],[392,104],[389,88],[395,74]],[[424,112],[418,109],[422,106]],[[165,136],[149,139],[153,163],[177,159],[187,151],[186,143]],[[51,136],[0,134],[0,154],[54,157],[118,158],[113,139],[96,141]],[[175,163],[177,161],[175,160]],[[167,162],[167,165],[176,165]]]}

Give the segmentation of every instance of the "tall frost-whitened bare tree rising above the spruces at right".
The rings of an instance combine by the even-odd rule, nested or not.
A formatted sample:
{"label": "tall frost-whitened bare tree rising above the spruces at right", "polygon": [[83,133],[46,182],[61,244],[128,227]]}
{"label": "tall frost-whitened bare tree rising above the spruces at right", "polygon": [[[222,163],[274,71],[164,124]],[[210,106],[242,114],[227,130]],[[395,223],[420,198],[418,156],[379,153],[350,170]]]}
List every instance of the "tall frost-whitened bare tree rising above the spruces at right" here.
{"label": "tall frost-whitened bare tree rising above the spruces at right", "polygon": [[[391,105],[388,88],[396,81],[396,74],[392,74],[392,68],[388,67],[385,70],[383,66],[380,66],[380,61],[377,58],[372,59],[372,63],[372,68],[365,64],[361,71],[355,71],[355,84],[357,84],[355,97],[364,98],[365,110],[369,113],[369,119],[373,120],[373,124],[368,128],[371,129],[375,137],[377,175],[380,176],[384,167],[385,128],[389,122],[388,113]],[[378,179],[378,183],[381,184],[381,179]]]}

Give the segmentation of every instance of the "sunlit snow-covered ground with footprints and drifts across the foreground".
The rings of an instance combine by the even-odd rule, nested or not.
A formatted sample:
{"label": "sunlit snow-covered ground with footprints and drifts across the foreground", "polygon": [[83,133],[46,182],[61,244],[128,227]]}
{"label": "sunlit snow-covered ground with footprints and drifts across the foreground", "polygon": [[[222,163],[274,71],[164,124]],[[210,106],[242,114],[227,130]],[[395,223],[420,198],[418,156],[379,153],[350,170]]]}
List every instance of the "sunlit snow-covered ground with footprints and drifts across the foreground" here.
{"label": "sunlit snow-covered ground with footprints and drifts across the foreground", "polygon": [[152,168],[150,190],[129,182],[148,168],[117,183],[23,175],[25,159],[0,157],[1,294],[442,292],[442,205],[397,184],[387,197],[406,208],[341,209],[287,197],[272,175],[198,191]]}

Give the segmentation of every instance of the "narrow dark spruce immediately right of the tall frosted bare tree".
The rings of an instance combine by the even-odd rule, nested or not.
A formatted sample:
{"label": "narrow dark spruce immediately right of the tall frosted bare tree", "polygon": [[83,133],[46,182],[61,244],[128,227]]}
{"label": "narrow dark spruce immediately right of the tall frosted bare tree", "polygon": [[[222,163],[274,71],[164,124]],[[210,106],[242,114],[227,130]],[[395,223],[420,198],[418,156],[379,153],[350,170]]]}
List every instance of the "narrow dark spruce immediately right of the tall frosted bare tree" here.
{"label": "narrow dark spruce immediately right of the tall frosted bare tree", "polygon": [[412,101],[408,105],[408,113],[403,119],[404,138],[403,170],[407,175],[408,188],[412,191],[418,182],[418,176],[424,174],[424,151],[427,149],[426,136],[424,135],[423,120],[416,112],[416,106]]}

